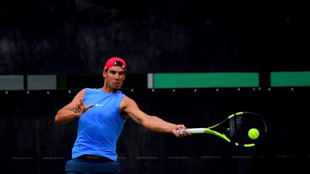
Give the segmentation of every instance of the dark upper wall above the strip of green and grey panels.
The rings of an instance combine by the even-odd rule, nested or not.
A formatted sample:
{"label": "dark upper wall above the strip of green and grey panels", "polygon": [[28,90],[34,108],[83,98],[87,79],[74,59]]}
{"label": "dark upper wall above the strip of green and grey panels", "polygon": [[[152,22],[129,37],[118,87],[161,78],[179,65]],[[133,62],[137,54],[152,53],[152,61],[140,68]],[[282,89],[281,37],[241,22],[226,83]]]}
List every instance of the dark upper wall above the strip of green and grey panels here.
{"label": "dark upper wall above the strip of green and grey panels", "polygon": [[0,2],[0,74],[304,71],[306,5],[210,0]]}

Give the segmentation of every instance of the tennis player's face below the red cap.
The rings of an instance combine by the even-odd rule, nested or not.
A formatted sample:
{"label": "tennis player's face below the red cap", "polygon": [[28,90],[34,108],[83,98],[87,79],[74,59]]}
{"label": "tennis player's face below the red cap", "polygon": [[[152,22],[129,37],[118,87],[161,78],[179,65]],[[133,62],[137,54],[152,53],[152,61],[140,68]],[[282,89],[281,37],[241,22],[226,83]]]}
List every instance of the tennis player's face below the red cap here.
{"label": "tennis player's face below the red cap", "polygon": [[104,83],[112,91],[117,91],[121,87],[125,76],[124,69],[118,66],[108,68],[107,72],[103,71]]}

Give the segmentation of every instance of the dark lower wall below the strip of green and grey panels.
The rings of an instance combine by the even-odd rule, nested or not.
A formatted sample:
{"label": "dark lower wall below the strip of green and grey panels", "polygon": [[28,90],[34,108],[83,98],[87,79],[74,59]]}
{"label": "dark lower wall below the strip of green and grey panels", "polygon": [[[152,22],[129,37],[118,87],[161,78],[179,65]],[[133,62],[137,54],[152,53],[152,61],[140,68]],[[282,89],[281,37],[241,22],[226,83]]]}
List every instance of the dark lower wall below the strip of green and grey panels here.
{"label": "dark lower wall below the strip of green and grey panels", "polygon": [[[125,123],[117,142],[124,174],[301,173],[310,162],[305,141],[308,88],[222,88],[123,90],[150,115],[188,128],[218,123],[232,113],[252,111],[267,124],[267,137],[254,148],[240,148],[212,135],[178,139]],[[0,92],[1,174],[62,174],[76,138],[76,120],[54,124],[57,110],[73,90]],[[147,96],[147,97],[146,97]],[[38,102],[39,101],[39,102]]]}

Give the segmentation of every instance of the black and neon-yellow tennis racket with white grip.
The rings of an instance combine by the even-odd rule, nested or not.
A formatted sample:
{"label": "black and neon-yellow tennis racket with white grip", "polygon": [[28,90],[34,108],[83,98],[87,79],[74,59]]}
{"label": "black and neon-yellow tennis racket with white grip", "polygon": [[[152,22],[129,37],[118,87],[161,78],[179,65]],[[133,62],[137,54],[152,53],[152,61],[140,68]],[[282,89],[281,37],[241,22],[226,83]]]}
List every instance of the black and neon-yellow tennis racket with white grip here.
{"label": "black and neon-yellow tennis racket with white grip", "polygon": [[253,147],[262,140],[267,127],[260,115],[253,112],[238,112],[214,126],[187,131],[191,134],[213,134],[236,146]]}

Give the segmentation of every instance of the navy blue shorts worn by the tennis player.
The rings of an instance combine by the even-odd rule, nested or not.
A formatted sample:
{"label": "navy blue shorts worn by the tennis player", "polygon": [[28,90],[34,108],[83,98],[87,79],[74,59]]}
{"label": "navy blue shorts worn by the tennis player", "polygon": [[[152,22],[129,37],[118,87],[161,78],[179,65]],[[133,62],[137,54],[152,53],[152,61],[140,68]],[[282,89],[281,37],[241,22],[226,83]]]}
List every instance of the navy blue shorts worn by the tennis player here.
{"label": "navy blue shorts worn by the tennis player", "polygon": [[65,163],[66,174],[120,174],[120,166],[108,158],[77,157]]}

